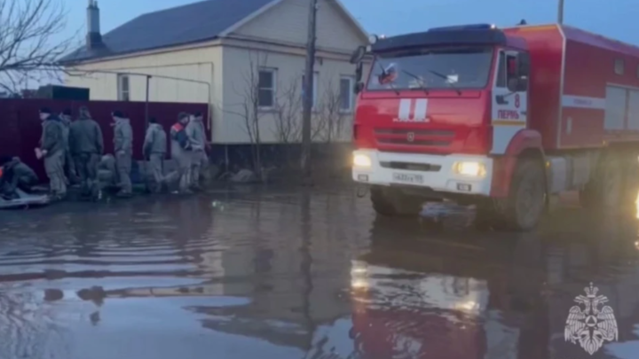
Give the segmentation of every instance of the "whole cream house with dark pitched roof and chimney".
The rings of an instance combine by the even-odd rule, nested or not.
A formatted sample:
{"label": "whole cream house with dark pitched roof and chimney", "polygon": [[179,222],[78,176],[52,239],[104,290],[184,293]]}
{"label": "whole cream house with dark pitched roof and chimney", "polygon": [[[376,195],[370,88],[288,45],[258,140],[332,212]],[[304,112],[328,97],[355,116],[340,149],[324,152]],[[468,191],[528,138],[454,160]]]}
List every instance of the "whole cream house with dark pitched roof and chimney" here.
{"label": "whole cream house with dark pitched roof and chimney", "polygon": [[[310,0],[209,0],[146,13],[100,35],[98,4],[89,0],[86,46],[63,59],[76,74],[66,84],[89,88],[92,100],[208,103],[214,144],[248,144],[256,129],[262,143],[296,142],[309,8]],[[348,60],[365,43],[339,0],[319,0],[316,141],[350,141]]]}

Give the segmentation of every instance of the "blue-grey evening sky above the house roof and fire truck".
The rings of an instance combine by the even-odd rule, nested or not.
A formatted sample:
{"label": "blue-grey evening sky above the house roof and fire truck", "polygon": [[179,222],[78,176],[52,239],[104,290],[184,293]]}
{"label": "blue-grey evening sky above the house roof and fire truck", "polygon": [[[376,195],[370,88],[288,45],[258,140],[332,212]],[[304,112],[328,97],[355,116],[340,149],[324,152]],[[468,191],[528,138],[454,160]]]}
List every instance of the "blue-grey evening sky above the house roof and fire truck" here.
{"label": "blue-grey evening sky above the house roof and fire truck", "polygon": [[[84,0],[64,0],[68,34],[85,26]],[[241,1],[241,0],[236,0]],[[319,0],[321,1],[324,0]],[[101,0],[103,34],[145,12],[193,0]],[[557,0],[342,0],[370,33],[397,35],[466,23],[514,25],[556,20]],[[627,43],[639,44],[639,0],[565,0],[564,22]],[[167,24],[170,26],[170,24]]]}

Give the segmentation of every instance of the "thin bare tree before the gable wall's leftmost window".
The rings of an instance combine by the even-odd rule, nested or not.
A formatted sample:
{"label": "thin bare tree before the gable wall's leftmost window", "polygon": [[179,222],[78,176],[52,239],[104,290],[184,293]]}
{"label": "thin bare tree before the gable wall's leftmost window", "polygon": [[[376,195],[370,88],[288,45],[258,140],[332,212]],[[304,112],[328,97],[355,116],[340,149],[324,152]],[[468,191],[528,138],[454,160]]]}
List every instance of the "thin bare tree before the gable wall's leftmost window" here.
{"label": "thin bare tree before the gable wall's leftmost window", "polygon": [[[225,112],[236,114],[242,119],[242,129],[247,133],[250,141],[253,171],[258,176],[262,174],[260,120],[264,114],[260,109],[259,78],[260,68],[266,65],[267,60],[268,55],[264,53],[258,51],[248,53],[248,68],[243,75],[241,88],[238,89],[236,83],[233,83],[235,94],[241,98],[239,103],[232,105],[237,110],[225,109]],[[275,80],[273,79],[273,81]],[[273,101],[274,98],[275,95],[273,94]]]}

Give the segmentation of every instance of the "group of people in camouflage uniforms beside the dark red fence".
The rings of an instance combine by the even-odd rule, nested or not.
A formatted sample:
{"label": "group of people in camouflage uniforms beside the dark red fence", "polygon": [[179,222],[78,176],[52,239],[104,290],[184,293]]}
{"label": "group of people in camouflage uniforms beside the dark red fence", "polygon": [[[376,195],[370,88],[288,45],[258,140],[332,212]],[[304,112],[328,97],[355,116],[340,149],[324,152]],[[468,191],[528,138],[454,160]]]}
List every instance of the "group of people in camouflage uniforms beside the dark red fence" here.
{"label": "group of people in camouflage uniforms beside the dark red fence", "polygon": [[[79,109],[75,121],[70,110],[59,115],[51,113],[48,108],[40,110],[43,133],[36,156],[44,162],[50,181],[51,199],[66,198],[67,186],[72,183],[81,184],[83,198],[97,199],[108,187],[116,188],[118,197],[131,196],[133,129],[125,113],[114,111],[112,118],[114,154],[104,154],[102,129],[97,121],[91,119],[86,107]],[[150,119],[142,146],[147,160],[146,169],[154,179],[154,185],[149,189],[161,192],[170,183],[179,183],[182,193],[200,190],[201,169],[209,162],[201,113],[180,113],[177,123],[170,128],[170,141],[171,158],[175,160],[177,168],[164,176],[167,134],[161,124],[154,118]],[[18,163],[13,163],[16,160],[20,162],[19,159],[13,159],[12,166]],[[37,176],[35,179],[22,175],[15,178],[16,186],[26,185],[23,181],[27,180],[29,185],[37,182]]]}

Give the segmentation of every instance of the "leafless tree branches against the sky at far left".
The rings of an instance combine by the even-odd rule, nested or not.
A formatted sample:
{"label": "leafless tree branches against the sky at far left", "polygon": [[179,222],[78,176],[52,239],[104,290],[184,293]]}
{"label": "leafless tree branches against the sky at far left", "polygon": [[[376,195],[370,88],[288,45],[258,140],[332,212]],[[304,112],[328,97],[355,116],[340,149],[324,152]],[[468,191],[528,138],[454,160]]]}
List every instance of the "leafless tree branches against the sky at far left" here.
{"label": "leafless tree branches against the sky at far left", "polygon": [[75,35],[60,40],[66,27],[62,0],[0,0],[0,88],[17,93],[59,79],[58,60],[75,43]]}

